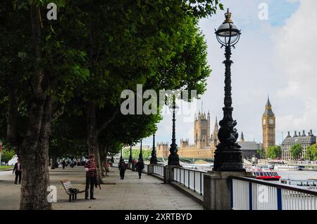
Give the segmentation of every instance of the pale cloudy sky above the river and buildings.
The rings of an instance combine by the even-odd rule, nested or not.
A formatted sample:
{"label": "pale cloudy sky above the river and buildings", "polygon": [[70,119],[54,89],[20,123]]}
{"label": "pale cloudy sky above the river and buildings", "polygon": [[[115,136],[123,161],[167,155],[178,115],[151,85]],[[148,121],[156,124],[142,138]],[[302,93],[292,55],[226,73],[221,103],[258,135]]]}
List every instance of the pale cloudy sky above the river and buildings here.
{"label": "pale cloudy sky above the river and buildings", "polygon": [[[230,8],[232,20],[242,30],[240,41],[232,49],[232,106],[237,130],[244,139],[262,142],[261,117],[268,95],[276,116],[276,143],[282,143],[287,131],[313,129],[317,134],[317,1],[316,0],[222,0]],[[267,8],[267,11],[266,11]],[[263,14],[264,12],[264,14]],[[267,20],[266,15],[267,12]],[[214,29],[224,21],[225,11],[204,18],[199,26],[208,45],[212,69],[207,91],[201,100],[183,107],[211,113],[211,131],[223,118],[224,49],[216,40]],[[180,107],[180,108],[182,108]],[[194,140],[192,118],[180,110],[176,116],[176,138]],[[171,143],[172,117],[164,114],[158,124],[156,143]],[[240,137],[240,136],[239,136]],[[143,140],[151,145],[152,138]]]}

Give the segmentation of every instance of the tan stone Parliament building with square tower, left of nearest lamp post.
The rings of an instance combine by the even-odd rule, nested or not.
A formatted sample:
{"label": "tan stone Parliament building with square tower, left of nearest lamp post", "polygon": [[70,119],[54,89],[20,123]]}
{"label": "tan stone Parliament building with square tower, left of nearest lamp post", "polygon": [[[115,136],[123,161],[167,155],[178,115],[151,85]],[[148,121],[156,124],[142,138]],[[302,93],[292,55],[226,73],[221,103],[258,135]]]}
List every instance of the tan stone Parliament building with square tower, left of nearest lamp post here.
{"label": "tan stone Parliament building with square tower, left of nearest lamp post", "polygon": [[[194,120],[194,145],[189,145],[188,139],[181,139],[178,147],[178,155],[181,158],[197,158],[197,159],[212,159],[213,154],[218,145],[218,121],[210,131],[210,114],[207,117],[205,113],[198,114]],[[167,158],[170,154],[170,145],[168,143],[159,143],[156,148],[157,157]]]}

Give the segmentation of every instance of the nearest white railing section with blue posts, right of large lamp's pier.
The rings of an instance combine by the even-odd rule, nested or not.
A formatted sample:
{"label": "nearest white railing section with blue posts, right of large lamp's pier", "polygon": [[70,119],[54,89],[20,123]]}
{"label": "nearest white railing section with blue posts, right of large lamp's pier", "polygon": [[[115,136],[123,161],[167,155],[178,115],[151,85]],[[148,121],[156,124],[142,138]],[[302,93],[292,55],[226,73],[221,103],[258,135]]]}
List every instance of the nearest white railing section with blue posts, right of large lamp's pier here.
{"label": "nearest white railing section with blue posts, right of large lamp's pier", "polygon": [[316,210],[317,191],[254,178],[231,177],[234,210]]}

